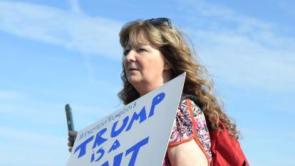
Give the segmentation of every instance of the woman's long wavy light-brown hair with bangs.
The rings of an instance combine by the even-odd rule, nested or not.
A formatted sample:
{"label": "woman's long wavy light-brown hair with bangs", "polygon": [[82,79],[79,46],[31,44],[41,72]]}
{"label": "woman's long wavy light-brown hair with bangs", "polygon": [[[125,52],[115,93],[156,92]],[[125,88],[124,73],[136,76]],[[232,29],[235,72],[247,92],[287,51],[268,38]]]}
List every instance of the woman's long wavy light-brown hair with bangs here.
{"label": "woman's long wavy light-brown hair with bangs", "polygon": [[[195,61],[194,51],[187,45],[177,28],[166,25],[155,26],[147,21],[137,20],[125,24],[119,36],[123,49],[127,46],[136,47],[143,40],[155,46],[170,63],[172,78],[186,72],[183,92],[199,98],[198,106],[205,114],[209,130],[219,128],[218,121],[221,120],[229,131],[229,135],[239,138],[235,123],[224,113],[222,101],[213,95],[214,83],[207,69]],[[128,104],[140,98],[138,91],[128,82],[124,67],[121,78],[123,89],[118,96],[123,103]]]}

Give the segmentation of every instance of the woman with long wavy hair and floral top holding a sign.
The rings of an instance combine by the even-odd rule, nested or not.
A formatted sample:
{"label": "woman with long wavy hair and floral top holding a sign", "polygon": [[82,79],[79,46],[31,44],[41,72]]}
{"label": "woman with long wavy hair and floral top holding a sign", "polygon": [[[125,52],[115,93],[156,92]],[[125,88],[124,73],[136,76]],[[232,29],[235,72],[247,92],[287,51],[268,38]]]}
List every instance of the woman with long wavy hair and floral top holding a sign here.
{"label": "woman with long wavy hair and floral top holding a sign", "polygon": [[187,76],[183,93],[200,100],[198,105],[192,100],[181,101],[162,165],[209,165],[209,130],[219,128],[219,120],[229,135],[238,137],[234,123],[212,95],[213,85],[205,68],[194,61],[193,52],[170,19],[129,22],[120,31],[120,44],[124,49],[123,90],[118,96],[125,104],[184,72]]}

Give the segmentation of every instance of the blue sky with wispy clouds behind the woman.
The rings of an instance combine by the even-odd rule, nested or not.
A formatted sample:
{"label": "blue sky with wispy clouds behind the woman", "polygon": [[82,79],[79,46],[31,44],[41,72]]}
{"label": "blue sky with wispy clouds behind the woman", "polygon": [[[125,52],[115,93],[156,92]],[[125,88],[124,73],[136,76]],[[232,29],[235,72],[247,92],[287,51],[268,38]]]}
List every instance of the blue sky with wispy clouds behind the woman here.
{"label": "blue sky with wispy clouds behind the woman", "polygon": [[168,17],[194,43],[252,165],[295,165],[295,1],[0,1],[0,160],[66,165],[76,130],[122,106],[120,27]]}

